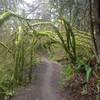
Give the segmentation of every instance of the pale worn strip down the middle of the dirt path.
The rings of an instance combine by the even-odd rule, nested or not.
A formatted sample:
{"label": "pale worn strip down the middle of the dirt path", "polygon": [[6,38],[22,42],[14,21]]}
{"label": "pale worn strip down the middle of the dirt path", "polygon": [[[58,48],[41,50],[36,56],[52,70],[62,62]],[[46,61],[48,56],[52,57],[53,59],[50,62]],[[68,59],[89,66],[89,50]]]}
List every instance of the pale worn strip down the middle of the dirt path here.
{"label": "pale worn strip down the middle of the dirt path", "polygon": [[58,100],[59,95],[55,91],[54,84],[54,66],[47,59],[43,59],[46,64],[46,72],[43,75],[43,83],[41,88],[42,98],[43,100]]}

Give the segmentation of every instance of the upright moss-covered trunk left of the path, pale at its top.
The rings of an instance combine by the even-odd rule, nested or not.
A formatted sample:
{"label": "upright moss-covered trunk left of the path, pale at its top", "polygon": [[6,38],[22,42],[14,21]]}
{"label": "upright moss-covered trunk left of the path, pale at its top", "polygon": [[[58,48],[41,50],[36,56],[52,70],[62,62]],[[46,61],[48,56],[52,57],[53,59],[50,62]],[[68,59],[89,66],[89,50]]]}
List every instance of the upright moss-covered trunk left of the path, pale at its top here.
{"label": "upright moss-covered trunk left of the path, pale at its top", "polygon": [[14,69],[14,85],[17,86],[21,84],[23,80],[23,67],[24,67],[24,40],[23,40],[23,29],[18,28],[18,33],[16,34],[16,51],[15,51],[15,69]]}

